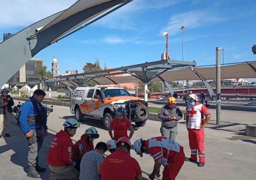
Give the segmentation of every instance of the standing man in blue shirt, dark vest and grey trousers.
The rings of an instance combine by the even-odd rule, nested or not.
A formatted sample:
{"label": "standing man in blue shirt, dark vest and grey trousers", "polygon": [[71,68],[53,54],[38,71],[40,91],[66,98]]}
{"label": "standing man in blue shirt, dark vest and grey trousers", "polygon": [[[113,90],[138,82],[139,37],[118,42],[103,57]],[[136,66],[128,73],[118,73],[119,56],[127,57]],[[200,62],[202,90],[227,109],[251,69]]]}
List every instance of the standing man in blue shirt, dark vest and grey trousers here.
{"label": "standing man in blue shirt, dark vest and grey trousers", "polygon": [[45,172],[45,168],[38,165],[39,150],[47,135],[47,108],[41,102],[45,98],[45,91],[35,90],[33,96],[22,105],[20,113],[20,127],[28,141],[28,177],[39,178],[38,172]]}

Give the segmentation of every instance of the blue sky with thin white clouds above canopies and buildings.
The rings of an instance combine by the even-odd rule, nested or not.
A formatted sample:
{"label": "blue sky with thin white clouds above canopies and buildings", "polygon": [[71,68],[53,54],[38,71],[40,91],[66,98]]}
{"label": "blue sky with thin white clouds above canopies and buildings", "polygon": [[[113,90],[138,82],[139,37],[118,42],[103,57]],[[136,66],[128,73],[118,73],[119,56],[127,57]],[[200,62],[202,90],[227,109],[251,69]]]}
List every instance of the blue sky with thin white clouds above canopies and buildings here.
{"label": "blue sky with thin white clouds above canopies and buildings", "polygon": [[[76,0],[0,0],[0,41],[3,33],[17,33],[51,14],[69,8]],[[256,60],[256,0],[134,0],[97,22],[39,52],[36,57],[51,68],[56,54],[60,74],[82,71],[87,62],[100,60],[117,68],[161,60],[166,52],[197,65],[215,64],[216,47],[225,48],[224,63]],[[221,63],[223,57],[221,57]]]}

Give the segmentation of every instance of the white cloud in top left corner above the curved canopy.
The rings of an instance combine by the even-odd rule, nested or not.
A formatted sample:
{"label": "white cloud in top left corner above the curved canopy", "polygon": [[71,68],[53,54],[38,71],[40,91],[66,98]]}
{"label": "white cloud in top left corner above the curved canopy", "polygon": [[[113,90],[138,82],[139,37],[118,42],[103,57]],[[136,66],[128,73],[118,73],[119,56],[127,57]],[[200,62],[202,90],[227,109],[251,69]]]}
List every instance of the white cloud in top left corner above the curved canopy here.
{"label": "white cloud in top left corner above the curved canopy", "polygon": [[76,0],[2,0],[0,28],[28,26],[69,8]]}

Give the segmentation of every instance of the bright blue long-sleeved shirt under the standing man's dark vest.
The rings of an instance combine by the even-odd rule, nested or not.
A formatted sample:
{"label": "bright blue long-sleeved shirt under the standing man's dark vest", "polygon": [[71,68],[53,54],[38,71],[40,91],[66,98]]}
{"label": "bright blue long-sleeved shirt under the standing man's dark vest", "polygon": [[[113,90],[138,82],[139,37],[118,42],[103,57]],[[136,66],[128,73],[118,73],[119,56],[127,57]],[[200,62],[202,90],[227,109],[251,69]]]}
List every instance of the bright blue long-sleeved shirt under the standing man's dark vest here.
{"label": "bright blue long-sleeved shirt under the standing man's dark vest", "polygon": [[[38,101],[33,97],[30,97],[29,101],[33,101],[36,104],[39,104]],[[32,102],[29,102],[29,101],[25,102],[22,105],[22,110],[19,117],[20,127],[24,134],[27,134],[31,129],[37,129],[43,126],[43,125],[28,125],[28,116],[33,116],[37,114],[36,109],[34,109]],[[44,128],[45,130],[47,130],[48,129],[47,125],[44,125]]]}

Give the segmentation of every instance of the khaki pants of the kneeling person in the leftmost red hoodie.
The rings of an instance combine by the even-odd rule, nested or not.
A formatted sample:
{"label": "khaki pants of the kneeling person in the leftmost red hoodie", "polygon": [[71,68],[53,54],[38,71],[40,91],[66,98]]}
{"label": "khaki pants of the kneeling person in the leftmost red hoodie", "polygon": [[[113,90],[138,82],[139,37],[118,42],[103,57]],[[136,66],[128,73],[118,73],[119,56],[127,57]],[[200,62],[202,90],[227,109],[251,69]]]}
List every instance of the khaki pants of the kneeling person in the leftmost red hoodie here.
{"label": "khaki pants of the kneeling person in the leftmost red hoodie", "polygon": [[73,166],[51,166],[48,164],[50,169],[49,180],[78,180],[79,172]]}

